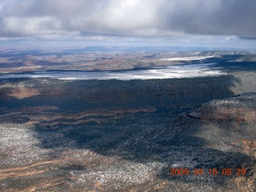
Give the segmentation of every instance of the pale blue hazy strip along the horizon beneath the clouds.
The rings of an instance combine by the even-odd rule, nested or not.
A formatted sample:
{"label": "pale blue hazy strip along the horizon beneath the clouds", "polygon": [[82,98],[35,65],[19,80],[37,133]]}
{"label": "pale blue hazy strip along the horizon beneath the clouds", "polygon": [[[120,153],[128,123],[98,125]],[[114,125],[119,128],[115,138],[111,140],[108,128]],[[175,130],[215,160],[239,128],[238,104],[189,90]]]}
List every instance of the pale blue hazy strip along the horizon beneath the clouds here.
{"label": "pale blue hazy strip along the horizon beneath the clouds", "polygon": [[166,49],[170,51],[190,51],[190,50],[223,50],[223,51],[256,51],[254,42],[248,42],[246,45],[240,42],[241,46],[232,43],[202,43],[202,44],[191,44],[186,42],[179,43],[162,43],[159,42],[98,42],[98,41],[49,41],[49,40],[4,40],[0,41],[0,51],[2,50],[79,50],[85,49],[86,47],[136,47],[136,48],[159,48],[158,50]]}

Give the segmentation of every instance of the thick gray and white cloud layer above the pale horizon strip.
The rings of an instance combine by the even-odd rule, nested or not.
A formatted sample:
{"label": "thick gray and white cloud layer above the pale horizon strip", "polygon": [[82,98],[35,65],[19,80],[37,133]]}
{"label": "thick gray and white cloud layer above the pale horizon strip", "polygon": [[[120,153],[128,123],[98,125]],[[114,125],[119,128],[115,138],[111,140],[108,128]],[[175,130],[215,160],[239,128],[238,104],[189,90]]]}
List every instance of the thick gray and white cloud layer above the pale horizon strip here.
{"label": "thick gray and white cloud layer above the pale horizon strip", "polygon": [[0,37],[256,37],[254,0],[2,0]]}

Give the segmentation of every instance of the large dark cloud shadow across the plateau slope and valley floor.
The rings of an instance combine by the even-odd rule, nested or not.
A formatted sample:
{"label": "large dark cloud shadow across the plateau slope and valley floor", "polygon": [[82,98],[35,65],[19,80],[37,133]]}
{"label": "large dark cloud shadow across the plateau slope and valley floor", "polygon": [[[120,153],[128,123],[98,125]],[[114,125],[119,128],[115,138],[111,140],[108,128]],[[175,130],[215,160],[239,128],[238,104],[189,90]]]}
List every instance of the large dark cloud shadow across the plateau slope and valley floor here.
{"label": "large dark cloud shadow across the plateau slope and valley floor", "polygon": [[[197,136],[205,122],[185,115],[202,102],[233,96],[234,93],[230,88],[234,87],[235,83],[239,83],[239,80],[232,75],[126,82],[117,80],[62,82],[48,79],[47,84],[42,84],[40,82],[42,79],[22,81],[34,83],[34,88],[37,88],[41,94],[16,99],[6,96],[10,95],[11,88],[4,88],[0,92],[0,106],[10,108],[56,106],[58,112],[65,114],[109,108],[156,109],[154,112],[134,114],[129,119],[126,119],[126,116],[120,119],[113,118],[113,122],[102,124],[87,122],[69,126],[62,124],[62,121],[67,121],[65,118],[58,118],[52,120],[57,122],[54,126],[45,129],[38,123],[34,137],[40,140],[42,148],[52,150],[50,154],[53,157],[58,157],[62,150],[69,148],[89,149],[106,156],[119,156],[130,162],[161,162],[167,166],[161,170],[159,178],[181,179],[184,182],[198,181],[189,177],[169,175],[170,166],[182,162],[183,158],[190,159],[198,168],[206,169],[242,167],[252,162],[252,158],[246,154],[212,149],[206,138]],[[52,116],[54,112],[54,110],[47,111]],[[33,113],[33,110],[27,111],[28,117],[34,115]],[[48,123],[51,125],[53,122]],[[59,138],[59,135],[62,137]],[[67,145],[69,141],[74,141],[74,144]],[[65,148],[62,148],[63,146]],[[189,165],[183,163],[180,166]],[[229,179],[229,177],[214,177],[215,182],[211,185],[222,186]]]}

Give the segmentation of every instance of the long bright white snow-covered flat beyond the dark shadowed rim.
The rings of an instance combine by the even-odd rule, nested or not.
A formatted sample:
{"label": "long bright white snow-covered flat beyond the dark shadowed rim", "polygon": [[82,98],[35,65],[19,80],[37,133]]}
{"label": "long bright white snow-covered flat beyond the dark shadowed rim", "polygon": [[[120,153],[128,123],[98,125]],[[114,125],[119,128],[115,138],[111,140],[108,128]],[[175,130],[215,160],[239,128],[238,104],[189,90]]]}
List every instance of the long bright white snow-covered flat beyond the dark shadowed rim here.
{"label": "long bright white snow-covered flat beyond the dark shadowed rim", "polygon": [[171,65],[151,67],[145,70],[122,71],[43,71],[33,74],[3,74],[0,78],[58,78],[61,80],[132,80],[132,79],[163,79],[163,78],[196,78],[226,74],[215,63]]}

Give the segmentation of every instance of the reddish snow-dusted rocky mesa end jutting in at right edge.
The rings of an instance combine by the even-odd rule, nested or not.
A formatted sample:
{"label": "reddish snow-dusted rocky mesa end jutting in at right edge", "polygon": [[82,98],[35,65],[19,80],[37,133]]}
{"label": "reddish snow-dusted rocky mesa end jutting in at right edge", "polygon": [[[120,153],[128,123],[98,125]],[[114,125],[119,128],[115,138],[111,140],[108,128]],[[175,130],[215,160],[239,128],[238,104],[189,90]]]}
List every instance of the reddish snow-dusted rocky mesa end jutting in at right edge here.
{"label": "reddish snow-dusted rocky mesa end jutting in at right edge", "polygon": [[256,138],[256,93],[211,100],[187,113],[186,118],[184,121],[190,122],[190,129],[200,127],[195,135],[204,139],[207,145],[230,145],[240,139],[253,142]]}

